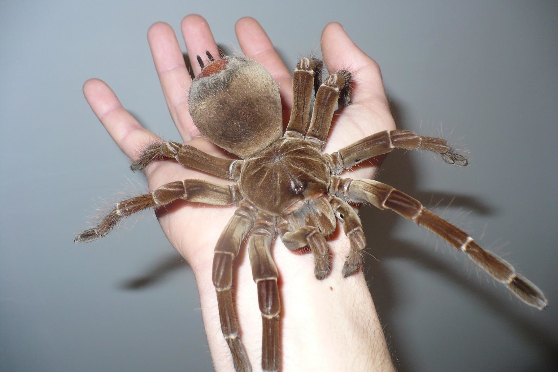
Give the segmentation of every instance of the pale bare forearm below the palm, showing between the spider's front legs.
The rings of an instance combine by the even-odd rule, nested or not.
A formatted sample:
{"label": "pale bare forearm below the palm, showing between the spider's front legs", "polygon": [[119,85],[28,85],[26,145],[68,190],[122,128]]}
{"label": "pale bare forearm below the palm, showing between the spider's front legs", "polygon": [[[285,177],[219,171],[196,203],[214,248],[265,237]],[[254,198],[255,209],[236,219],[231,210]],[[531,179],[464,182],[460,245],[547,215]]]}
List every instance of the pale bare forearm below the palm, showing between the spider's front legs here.
{"label": "pale bare forearm below the palm, showing between the spider's front legs", "polygon": [[[382,327],[362,273],[343,278],[348,243],[331,244],[333,270],[323,281],[314,277],[311,254],[296,255],[275,242],[273,257],[280,272],[282,371],[394,370]],[[235,265],[234,296],[241,338],[254,370],[261,362],[262,321],[256,284],[247,255]],[[215,370],[232,370],[230,351],[220,330],[209,262],[193,265],[201,310]]]}

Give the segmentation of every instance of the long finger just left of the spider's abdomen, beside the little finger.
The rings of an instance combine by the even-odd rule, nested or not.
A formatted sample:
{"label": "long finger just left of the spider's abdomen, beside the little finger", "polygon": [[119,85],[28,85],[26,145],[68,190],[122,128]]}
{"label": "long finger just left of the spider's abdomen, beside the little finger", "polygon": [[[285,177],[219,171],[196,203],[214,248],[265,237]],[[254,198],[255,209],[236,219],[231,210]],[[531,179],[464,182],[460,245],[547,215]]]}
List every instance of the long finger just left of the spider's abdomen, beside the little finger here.
{"label": "long finger just left of the spider's abdomen, beside the little finger", "polygon": [[188,112],[188,89],[192,79],[175,32],[167,23],[157,22],[147,31],[147,40],[172,120],[182,139],[189,141],[190,132],[195,128]]}

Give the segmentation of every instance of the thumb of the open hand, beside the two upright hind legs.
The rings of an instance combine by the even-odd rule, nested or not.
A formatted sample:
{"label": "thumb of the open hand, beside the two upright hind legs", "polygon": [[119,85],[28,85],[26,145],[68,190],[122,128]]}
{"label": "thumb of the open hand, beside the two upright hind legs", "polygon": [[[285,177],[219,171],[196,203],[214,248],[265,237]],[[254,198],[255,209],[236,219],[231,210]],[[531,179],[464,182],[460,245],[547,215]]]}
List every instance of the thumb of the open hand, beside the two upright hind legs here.
{"label": "thumb of the open hand, beside the two upright hind legs", "polygon": [[387,106],[378,64],[354,44],[340,23],[331,22],[325,26],[320,46],[329,73],[347,69],[353,74],[353,103],[374,99],[383,101]]}

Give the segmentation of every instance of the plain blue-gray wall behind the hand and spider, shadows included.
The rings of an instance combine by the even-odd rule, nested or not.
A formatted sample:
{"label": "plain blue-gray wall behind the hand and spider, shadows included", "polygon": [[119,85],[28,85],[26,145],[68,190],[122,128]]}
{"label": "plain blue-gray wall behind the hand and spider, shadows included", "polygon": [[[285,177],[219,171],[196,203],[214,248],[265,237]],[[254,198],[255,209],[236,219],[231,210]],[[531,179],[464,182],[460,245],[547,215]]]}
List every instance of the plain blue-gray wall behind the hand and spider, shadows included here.
{"label": "plain blue-gray wall behind the hand and spider, shadows included", "polygon": [[146,31],[156,21],[179,31],[193,12],[225,46],[239,17],[256,17],[290,68],[341,22],[382,66],[400,128],[441,129],[470,151],[464,169],[392,153],[378,180],[425,204],[443,199],[437,211],[516,264],[550,307],[523,305],[424,229],[363,208],[377,258],[365,270],[398,370],[557,370],[551,1],[1,2],[0,370],[211,370],[193,274],[152,214],[97,243],[72,241],[100,198],[145,187],[81,85],[104,79],[143,124],[179,139]]}

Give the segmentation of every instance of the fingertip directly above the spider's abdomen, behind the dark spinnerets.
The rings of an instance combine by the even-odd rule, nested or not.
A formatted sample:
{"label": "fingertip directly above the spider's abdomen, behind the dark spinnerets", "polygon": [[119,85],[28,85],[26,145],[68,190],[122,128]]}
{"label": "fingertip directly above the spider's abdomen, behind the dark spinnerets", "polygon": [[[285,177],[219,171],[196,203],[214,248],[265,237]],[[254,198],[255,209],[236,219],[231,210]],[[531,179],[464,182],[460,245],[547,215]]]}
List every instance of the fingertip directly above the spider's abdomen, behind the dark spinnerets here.
{"label": "fingertip directly above the spider's abdomen, behind the dark spinnerets", "polygon": [[188,15],[182,19],[181,27],[194,76],[198,76],[201,67],[196,57],[200,56],[204,64],[207,64],[209,59],[205,51],[209,51],[215,59],[219,59],[219,50],[204,17],[196,14]]}

